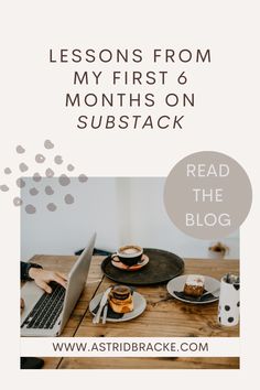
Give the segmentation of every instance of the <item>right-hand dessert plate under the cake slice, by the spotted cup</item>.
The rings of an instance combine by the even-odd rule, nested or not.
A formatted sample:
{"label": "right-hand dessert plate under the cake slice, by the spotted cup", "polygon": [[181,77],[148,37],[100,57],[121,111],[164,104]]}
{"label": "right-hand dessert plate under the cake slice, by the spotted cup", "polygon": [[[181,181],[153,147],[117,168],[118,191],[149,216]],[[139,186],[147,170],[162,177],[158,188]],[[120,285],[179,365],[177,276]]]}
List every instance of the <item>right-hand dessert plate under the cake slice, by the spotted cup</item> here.
{"label": "right-hand dessert plate under the cake slice, by the spotted cup", "polygon": [[194,299],[193,296],[189,297],[185,295],[183,293],[183,290],[187,277],[188,275],[181,275],[170,280],[170,282],[167,283],[169,294],[171,294],[173,297],[175,297],[178,301],[199,304],[199,305],[205,303],[212,303],[219,299],[220,282],[217,279],[210,277],[204,277],[205,278],[204,293],[213,291],[214,292],[213,294],[205,295],[205,299],[202,297],[202,301],[199,301],[199,299]]}

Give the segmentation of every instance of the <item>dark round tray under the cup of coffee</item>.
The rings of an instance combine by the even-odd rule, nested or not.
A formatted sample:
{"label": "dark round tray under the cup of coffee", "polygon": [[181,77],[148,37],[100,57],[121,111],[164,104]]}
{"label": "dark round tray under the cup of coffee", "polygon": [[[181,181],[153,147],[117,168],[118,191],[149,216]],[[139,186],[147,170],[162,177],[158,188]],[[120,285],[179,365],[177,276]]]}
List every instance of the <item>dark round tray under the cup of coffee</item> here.
{"label": "dark round tray under the cup of coffee", "polygon": [[161,249],[144,248],[149,263],[141,270],[129,272],[119,270],[108,256],[101,263],[105,275],[115,282],[131,285],[165,283],[184,271],[184,261],[178,256]]}

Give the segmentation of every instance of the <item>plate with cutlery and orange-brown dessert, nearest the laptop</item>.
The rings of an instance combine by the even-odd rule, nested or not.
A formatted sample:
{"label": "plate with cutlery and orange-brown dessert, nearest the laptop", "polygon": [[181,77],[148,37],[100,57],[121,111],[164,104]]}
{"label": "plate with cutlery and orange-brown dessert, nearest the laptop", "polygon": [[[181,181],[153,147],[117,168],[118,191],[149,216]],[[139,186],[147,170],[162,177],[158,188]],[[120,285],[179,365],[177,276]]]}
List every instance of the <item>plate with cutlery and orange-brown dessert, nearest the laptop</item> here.
{"label": "plate with cutlery and orange-brown dessert, nearest the laptop", "polygon": [[[101,301],[102,297],[102,293],[96,295],[89,303],[89,311],[91,312],[93,315],[95,315],[93,313],[93,311],[97,307],[98,303]],[[109,318],[107,317],[107,322],[109,323],[121,323],[124,321],[130,321],[136,317],[138,317],[140,314],[142,314],[147,307],[147,301],[145,299],[139,294],[138,292],[133,292],[132,294],[132,299],[133,299],[133,311],[130,313],[126,313],[123,314],[123,316],[121,318]]]}

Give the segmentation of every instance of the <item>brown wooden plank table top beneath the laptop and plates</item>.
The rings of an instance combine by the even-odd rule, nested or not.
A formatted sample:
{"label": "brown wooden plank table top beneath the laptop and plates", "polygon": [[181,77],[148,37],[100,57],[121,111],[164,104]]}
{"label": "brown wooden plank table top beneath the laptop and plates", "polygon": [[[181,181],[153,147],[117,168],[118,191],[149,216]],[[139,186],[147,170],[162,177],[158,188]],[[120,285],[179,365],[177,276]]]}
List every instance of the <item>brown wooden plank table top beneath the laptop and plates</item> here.
{"label": "brown wooden plank table top beneath the laptop and plates", "polygon": [[[31,261],[45,269],[68,272],[75,256],[34,256]],[[138,286],[147,300],[147,310],[126,323],[93,324],[88,303],[112,284],[102,274],[104,257],[94,257],[85,290],[67,322],[62,336],[68,337],[238,337],[239,326],[224,327],[217,322],[217,306],[185,304],[173,299],[166,284]],[[239,272],[238,260],[185,259],[185,274],[207,274],[220,280]],[[44,358],[44,368],[239,368],[239,358]]]}

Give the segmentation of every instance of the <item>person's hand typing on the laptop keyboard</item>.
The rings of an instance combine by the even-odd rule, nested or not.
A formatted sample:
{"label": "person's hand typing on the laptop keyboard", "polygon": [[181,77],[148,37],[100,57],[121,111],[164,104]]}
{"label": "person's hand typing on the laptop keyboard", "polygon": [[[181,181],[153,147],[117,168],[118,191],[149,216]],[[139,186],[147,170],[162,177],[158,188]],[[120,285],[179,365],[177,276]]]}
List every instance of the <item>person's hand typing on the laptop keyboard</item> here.
{"label": "person's hand typing on the laptop keyboard", "polygon": [[52,288],[48,285],[48,283],[52,281],[57,282],[66,289],[67,277],[61,272],[54,272],[32,267],[29,270],[29,277],[34,280],[36,285],[39,285],[48,294],[52,292]]}

